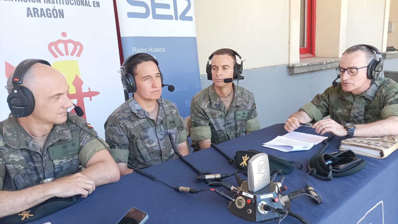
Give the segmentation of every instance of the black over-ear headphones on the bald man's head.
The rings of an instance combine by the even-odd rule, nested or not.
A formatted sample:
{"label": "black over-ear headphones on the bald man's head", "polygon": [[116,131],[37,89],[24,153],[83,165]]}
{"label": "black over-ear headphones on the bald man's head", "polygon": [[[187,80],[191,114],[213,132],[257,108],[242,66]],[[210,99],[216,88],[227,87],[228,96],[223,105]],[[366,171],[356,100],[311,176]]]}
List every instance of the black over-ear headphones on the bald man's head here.
{"label": "black over-ear headphones on the bald man's head", "polygon": [[21,86],[21,84],[25,73],[36,63],[51,66],[50,63],[41,59],[26,59],[23,60],[14,71],[14,77],[12,79],[13,88],[10,94],[8,94],[7,103],[11,113],[18,118],[31,115],[35,109],[35,97],[32,91],[25,86]]}

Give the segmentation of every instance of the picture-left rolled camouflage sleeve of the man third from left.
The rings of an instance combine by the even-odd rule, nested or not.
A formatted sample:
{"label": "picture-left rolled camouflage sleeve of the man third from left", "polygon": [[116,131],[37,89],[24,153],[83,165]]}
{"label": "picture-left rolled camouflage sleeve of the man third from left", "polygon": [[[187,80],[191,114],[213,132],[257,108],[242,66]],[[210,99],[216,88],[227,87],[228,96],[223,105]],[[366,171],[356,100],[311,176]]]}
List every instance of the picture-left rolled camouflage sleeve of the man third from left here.
{"label": "picture-left rolled camouflage sleeve of the man third from left", "polygon": [[202,141],[211,139],[210,121],[203,109],[197,104],[196,100],[191,100],[191,140]]}

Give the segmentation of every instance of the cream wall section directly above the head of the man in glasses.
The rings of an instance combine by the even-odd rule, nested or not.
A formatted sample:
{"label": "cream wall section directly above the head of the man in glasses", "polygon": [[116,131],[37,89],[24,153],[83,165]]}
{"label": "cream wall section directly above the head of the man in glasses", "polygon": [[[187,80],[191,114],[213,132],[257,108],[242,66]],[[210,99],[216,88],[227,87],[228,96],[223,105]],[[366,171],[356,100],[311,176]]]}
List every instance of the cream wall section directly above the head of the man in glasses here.
{"label": "cream wall section directly above the head of the man in glasses", "polygon": [[356,44],[367,43],[381,51],[386,50],[382,49],[384,4],[384,0],[348,1],[346,49]]}

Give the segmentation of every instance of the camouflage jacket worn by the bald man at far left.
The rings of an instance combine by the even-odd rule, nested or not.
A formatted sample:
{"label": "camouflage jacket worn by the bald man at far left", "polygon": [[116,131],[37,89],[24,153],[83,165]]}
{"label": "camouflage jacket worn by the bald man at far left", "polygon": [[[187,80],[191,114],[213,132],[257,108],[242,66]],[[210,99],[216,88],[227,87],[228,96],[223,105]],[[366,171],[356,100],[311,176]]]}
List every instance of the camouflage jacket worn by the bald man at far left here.
{"label": "camouflage jacket worn by the bald man at far left", "polygon": [[[18,119],[10,115],[0,122],[0,190],[16,191],[78,172],[97,151],[105,149],[83,118],[68,113],[68,120],[51,129],[44,152],[23,130]],[[105,143],[105,141],[103,141]],[[105,144],[106,145],[106,144]]]}

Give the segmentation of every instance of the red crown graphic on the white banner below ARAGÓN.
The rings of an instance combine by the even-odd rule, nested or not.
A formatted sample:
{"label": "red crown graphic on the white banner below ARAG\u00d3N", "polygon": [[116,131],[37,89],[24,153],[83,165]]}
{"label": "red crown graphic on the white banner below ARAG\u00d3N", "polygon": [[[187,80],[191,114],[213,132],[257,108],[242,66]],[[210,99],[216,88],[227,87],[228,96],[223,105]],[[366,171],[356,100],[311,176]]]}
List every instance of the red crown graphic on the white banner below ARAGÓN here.
{"label": "red crown graphic on the white banner below ARAG\u00d3N", "polygon": [[[62,32],[61,35],[62,35],[62,37],[66,37],[66,33],[65,32]],[[55,58],[58,58],[58,55],[60,55],[60,56],[65,56],[65,55],[68,56],[69,55],[68,43],[71,43],[73,45],[73,49],[70,52],[70,56],[74,56],[76,51],[77,51],[76,57],[80,57],[80,55],[82,54],[82,51],[83,51],[83,45],[82,45],[82,43],[80,43],[78,41],[74,41],[72,39],[67,39],[67,40],[59,39],[57,41],[50,42],[49,45],[48,45],[48,49],[49,49],[50,53]],[[63,47],[64,48],[64,53],[59,49],[59,45],[60,44],[64,45],[64,47]],[[57,52],[58,55],[55,52]]]}

